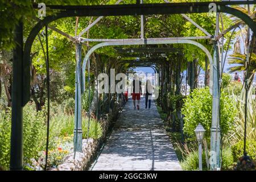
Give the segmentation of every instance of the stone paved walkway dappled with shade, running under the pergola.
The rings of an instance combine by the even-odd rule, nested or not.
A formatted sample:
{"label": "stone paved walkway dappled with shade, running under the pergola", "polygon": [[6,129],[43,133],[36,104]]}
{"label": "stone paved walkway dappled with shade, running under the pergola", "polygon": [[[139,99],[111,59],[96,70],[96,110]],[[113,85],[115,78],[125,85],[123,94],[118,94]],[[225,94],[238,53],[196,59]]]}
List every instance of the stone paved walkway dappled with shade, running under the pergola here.
{"label": "stone paved walkway dappled with shade, running under the pergola", "polygon": [[91,170],[181,170],[154,102],[133,109],[129,100]]}

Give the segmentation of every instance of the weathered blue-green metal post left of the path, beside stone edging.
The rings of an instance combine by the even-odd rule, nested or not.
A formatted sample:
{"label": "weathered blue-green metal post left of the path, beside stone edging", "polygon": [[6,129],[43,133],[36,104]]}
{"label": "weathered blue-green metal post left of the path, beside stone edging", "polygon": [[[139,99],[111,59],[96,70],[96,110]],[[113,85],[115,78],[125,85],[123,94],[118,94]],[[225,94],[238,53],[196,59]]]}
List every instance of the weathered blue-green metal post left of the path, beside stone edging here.
{"label": "weathered blue-green metal post left of the path, beside stone edging", "polygon": [[75,129],[74,129],[74,150],[82,152],[82,104],[81,104],[81,93],[82,93],[82,46],[76,44],[76,93],[75,93]]}

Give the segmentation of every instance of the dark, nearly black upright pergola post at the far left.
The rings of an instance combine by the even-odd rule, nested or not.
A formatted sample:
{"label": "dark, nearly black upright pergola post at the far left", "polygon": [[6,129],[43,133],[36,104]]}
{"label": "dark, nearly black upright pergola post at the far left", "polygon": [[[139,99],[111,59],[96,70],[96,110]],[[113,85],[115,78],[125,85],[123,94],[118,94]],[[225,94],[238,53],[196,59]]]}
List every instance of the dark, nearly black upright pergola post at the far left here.
{"label": "dark, nearly black upright pergola post at the far left", "polygon": [[11,159],[10,170],[23,169],[22,78],[23,78],[23,23],[15,30],[16,47],[13,52],[13,88],[11,90]]}

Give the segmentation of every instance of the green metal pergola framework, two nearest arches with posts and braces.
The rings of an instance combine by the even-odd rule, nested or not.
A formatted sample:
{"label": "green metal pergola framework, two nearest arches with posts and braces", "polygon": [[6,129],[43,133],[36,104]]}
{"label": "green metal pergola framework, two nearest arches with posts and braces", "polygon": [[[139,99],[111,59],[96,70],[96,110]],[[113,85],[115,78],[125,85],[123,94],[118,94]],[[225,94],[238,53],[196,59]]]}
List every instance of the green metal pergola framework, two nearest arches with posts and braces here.
{"label": "green metal pergola framework, two nearest arches with posts and braces", "polygon": [[[100,16],[92,24],[81,31],[79,36],[73,38],[52,28],[55,31],[59,31],[60,34],[76,42],[77,52],[77,67],[76,67],[76,125],[75,131],[79,135],[77,142],[77,151],[81,150],[81,94],[85,91],[85,68],[89,63],[90,55],[98,48],[105,46],[133,46],[133,45],[148,45],[148,44],[193,44],[202,49],[208,56],[210,62],[210,77],[212,82],[210,88],[212,88],[213,104],[212,104],[212,128],[211,128],[211,159],[216,163],[211,164],[211,169],[220,168],[220,126],[219,126],[219,107],[220,107],[220,56],[218,53],[218,39],[221,36],[216,28],[215,35],[209,35],[203,28],[197,25],[193,20],[189,19],[184,14],[191,13],[208,13],[209,4],[212,2],[193,2],[193,3],[158,3],[158,4],[134,4],[134,5],[96,5],[96,6],[61,6],[61,5],[47,5],[48,8],[54,10],[60,10],[55,15],[47,16],[46,18],[39,20],[39,22],[32,28],[23,49],[23,26],[22,22],[18,24],[15,31],[15,40],[18,43],[14,50],[13,60],[13,106],[12,106],[12,127],[11,127],[11,162],[10,169],[20,170],[23,168],[23,149],[22,149],[22,109],[30,100],[30,65],[31,65],[31,46],[36,36],[42,30],[44,26],[48,26],[49,23],[54,20],[65,18],[69,16]],[[166,1],[168,2],[168,1]],[[232,2],[213,2],[216,4],[216,13],[228,13],[242,19],[256,34],[255,22],[246,14],[238,11],[229,5],[251,5],[255,4],[255,1],[232,1]],[[36,6],[35,6],[36,7]],[[89,30],[94,24],[96,24],[104,16],[124,16],[124,15],[141,15],[141,24],[143,25],[143,15],[152,14],[182,14],[184,18],[190,20],[197,28],[203,31],[207,36],[204,37],[188,37],[188,38],[144,38],[143,26],[141,26],[141,39],[85,39],[81,36]],[[217,26],[218,27],[218,26]],[[235,28],[234,26],[233,28]],[[233,29],[232,28],[232,29]],[[230,28],[229,28],[230,29]],[[228,29],[228,30],[229,30]],[[231,29],[231,30],[232,30]],[[225,31],[222,32],[225,34]],[[213,42],[213,57],[210,52],[202,44],[196,42],[198,39],[211,39]],[[84,42],[101,42],[96,46],[90,48],[86,53],[83,61],[81,57],[81,47]],[[22,69],[20,69],[22,68]],[[89,70],[89,64],[88,64]]]}

